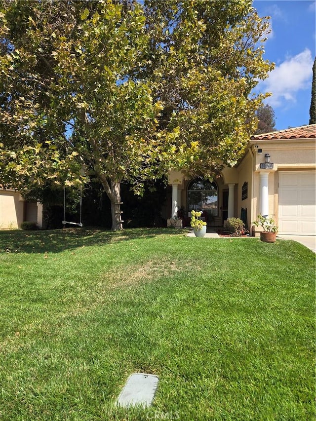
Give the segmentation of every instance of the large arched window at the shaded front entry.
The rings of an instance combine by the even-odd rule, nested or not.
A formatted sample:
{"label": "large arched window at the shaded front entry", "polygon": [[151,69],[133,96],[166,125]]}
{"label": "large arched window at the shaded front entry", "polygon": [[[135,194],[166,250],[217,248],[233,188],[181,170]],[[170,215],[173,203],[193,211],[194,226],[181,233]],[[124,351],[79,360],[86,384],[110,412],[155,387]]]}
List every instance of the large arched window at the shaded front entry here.
{"label": "large arched window at the shaded front entry", "polygon": [[218,216],[218,189],[216,183],[197,177],[188,185],[188,212],[202,211],[208,221]]}

